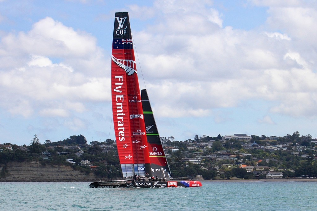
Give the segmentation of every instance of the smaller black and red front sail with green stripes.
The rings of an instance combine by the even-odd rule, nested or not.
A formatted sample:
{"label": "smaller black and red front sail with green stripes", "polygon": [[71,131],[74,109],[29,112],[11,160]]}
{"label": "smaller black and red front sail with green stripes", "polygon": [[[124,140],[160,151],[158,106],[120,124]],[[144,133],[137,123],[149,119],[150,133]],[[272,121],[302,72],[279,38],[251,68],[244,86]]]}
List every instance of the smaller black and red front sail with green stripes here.
{"label": "smaller black and red front sail with green stripes", "polygon": [[170,179],[171,170],[165,157],[146,89],[142,89],[141,99],[146,126],[146,137],[148,142],[152,176]]}

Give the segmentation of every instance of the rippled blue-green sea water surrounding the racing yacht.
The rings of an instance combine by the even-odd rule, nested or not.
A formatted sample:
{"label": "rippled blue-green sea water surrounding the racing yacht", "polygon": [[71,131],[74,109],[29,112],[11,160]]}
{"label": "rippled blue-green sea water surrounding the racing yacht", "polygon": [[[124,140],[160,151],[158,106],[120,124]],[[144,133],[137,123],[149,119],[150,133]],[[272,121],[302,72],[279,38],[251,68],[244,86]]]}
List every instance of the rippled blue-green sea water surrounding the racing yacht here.
{"label": "rippled blue-green sea water surrounding the racing yacht", "polygon": [[0,182],[0,210],[317,210],[317,182],[202,182],[194,188],[88,188]]}

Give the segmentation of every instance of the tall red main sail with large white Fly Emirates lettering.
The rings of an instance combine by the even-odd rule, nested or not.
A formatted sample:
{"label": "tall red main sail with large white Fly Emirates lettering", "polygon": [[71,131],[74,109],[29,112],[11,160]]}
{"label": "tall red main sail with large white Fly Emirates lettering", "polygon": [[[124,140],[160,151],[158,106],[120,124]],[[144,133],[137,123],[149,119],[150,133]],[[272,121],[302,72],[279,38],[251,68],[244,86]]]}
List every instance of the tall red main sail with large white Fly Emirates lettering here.
{"label": "tall red main sail with large white Fly Emirates lettering", "polygon": [[111,59],[113,124],[123,177],[142,176],[151,167],[127,12],[115,14]]}

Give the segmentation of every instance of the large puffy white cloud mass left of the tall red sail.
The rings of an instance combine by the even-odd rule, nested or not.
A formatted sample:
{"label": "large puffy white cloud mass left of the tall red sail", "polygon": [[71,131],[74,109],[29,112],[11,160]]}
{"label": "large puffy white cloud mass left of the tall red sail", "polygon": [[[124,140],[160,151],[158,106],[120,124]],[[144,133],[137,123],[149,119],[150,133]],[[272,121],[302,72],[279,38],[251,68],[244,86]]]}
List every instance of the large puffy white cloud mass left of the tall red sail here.
{"label": "large puffy white cloud mass left of the tall red sail", "polygon": [[27,33],[4,35],[0,46],[0,106],[12,114],[68,117],[85,102],[110,99],[109,78],[97,77],[103,54],[87,33],[47,17]]}

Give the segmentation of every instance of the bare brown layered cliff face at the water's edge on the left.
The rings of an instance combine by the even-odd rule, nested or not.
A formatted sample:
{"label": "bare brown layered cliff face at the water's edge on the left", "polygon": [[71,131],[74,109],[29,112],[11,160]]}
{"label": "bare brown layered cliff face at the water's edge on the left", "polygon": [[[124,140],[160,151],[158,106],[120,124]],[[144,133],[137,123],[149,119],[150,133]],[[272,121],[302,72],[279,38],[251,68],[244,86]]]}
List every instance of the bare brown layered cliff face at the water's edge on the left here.
{"label": "bare brown layered cliff face at the water's edge on the left", "polygon": [[[3,172],[5,170],[5,172]],[[0,182],[94,182],[107,180],[93,173],[74,170],[70,166],[41,165],[39,162],[0,164]]]}

